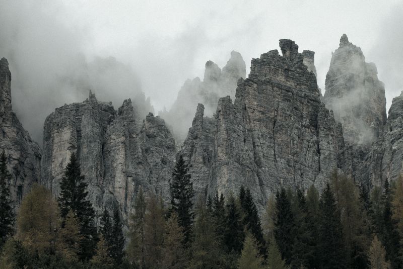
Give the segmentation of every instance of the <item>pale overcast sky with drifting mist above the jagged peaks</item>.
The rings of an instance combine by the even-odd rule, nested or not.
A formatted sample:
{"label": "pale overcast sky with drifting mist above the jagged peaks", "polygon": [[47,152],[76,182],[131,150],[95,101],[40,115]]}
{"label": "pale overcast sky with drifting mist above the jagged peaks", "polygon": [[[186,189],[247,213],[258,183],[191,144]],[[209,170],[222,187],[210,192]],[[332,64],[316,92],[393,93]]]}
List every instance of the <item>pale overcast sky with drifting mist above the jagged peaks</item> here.
{"label": "pale overcast sky with drifting mist above the jagged peaks", "polygon": [[[300,52],[315,51],[323,91],[331,52],[343,33],[378,67],[389,109],[403,89],[402,14],[401,0],[0,0],[0,57],[9,59],[12,70],[13,108],[34,133],[55,107],[88,96],[65,80],[80,77],[99,57],[114,57],[139,82],[132,92],[111,88],[101,97],[110,97],[117,109],[141,87],[158,112],[170,108],[187,78],[203,78],[207,60],[222,68],[236,50],[249,73],[250,60],[279,49],[282,38],[294,40]],[[113,77],[105,80],[113,85]],[[33,114],[39,120],[30,124]]]}

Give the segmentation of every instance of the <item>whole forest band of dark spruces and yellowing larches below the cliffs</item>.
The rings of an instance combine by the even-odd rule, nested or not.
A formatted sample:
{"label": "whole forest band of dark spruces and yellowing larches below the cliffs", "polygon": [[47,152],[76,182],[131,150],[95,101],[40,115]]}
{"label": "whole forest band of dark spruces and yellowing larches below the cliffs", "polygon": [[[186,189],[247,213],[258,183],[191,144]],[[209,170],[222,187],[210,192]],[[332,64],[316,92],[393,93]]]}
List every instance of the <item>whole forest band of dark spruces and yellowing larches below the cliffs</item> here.
{"label": "whole forest band of dark spruces and yellowing larches below the cliffs", "polygon": [[[371,192],[334,171],[322,193],[280,189],[260,214],[248,188],[195,199],[179,156],[169,206],[140,187],[123,231],[118,205],[99,225],[77,156],[57,199],[35,185],[14,215],[0,158],[1,268],[402,268],[403,179]],[[259,217],[261,216],[261,218]],[[97,227],[98,226],[98,227]],[[16,227],[16,228],[15,228]]]}

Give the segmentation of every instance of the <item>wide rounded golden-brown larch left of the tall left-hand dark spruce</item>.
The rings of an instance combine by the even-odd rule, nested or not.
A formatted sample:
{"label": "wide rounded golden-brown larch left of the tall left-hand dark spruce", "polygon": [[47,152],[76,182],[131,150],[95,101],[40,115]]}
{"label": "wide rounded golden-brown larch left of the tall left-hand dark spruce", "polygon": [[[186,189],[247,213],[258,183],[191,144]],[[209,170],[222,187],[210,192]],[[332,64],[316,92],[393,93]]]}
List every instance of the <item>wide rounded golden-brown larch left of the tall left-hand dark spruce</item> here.
{"label": "wide rounded golden-brown larch left of the tall left-hand dark spruce", "polygon": [[17,238],[33,252],[48,253],[55,250],[60,213],[51,192],[34,185],[21,202],[17,216]]}

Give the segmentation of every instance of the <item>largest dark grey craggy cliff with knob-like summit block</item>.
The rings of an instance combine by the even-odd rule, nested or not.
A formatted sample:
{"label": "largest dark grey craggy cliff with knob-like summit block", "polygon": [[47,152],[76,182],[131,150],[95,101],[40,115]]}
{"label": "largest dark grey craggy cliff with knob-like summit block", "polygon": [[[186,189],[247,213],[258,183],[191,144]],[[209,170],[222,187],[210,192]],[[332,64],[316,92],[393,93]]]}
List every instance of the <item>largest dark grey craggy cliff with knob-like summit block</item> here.
{"label": "largest dark grey craggy cliff with knob-like summit block", "polygon": [[282,186],[321,190],[333,169],[344,168],[342,127],[321,104],[312,68],[293,41],[280,40],[280,48],[282,56],[272,50],[252,60],[234,104],[221,98],[214,121],[198,107],[180,152],[203,171],[192,174],[196,192],[227,196],[243,185],[262,209]]}

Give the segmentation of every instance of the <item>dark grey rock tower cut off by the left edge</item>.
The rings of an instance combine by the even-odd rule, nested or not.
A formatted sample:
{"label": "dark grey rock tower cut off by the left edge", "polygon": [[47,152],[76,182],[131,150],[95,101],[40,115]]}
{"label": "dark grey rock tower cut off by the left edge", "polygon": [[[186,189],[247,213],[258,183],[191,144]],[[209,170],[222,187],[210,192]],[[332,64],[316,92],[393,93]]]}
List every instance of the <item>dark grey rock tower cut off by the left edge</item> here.
{"label": "dark grey rock tower cut off by the left edge", "polygon": [[32,184],[39,181],[41,150],[12,110],[11,72],[5,58],[0,60],[0,136],[0,150],[5,150],[12,174],[11,198],[18,206]]}

